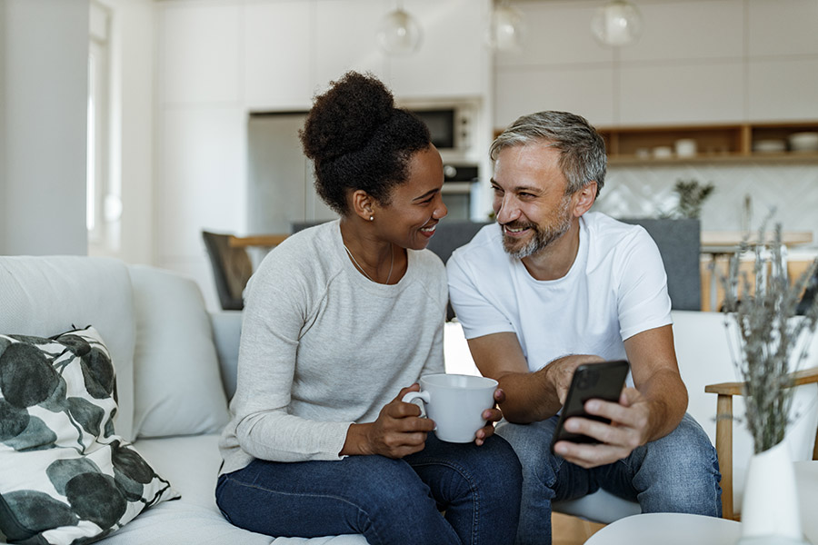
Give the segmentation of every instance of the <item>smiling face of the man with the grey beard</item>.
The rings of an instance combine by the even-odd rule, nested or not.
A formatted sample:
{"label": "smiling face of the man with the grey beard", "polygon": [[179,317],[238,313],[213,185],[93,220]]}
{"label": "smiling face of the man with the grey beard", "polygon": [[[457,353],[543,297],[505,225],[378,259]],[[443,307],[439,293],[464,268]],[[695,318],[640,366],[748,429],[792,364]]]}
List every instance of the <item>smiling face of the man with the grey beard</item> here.
{"label": "smiling face of the man with the grey beard", "polygon": [[505,148],[494,163],[494,214],[504,249],[523,259],[559,240],[574,221],[572,195],[548,144]]}

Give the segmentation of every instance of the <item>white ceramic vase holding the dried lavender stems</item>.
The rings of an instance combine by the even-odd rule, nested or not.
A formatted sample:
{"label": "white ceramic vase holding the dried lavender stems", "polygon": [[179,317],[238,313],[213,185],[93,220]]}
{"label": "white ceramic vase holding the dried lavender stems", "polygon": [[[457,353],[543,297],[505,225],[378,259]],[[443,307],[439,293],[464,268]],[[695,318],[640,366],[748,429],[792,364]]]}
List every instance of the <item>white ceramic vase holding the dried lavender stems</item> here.
{"label": "white ceramic vase holding the dried lavender stems", "polygon": [[754,454],[747,468],[739,544],[762,542],[804,542],[793,459],[787,441]]}

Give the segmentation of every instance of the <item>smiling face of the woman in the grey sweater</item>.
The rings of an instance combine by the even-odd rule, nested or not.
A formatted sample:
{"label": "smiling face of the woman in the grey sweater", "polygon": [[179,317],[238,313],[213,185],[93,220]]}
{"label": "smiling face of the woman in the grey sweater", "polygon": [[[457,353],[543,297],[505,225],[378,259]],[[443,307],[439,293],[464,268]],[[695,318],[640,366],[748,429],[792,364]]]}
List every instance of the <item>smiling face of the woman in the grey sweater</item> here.
{"label": "smiling face of the woman in the grey sweater", "polygon": [[409,161],[408,180],[394,188],[387,206],[379,207],[375,222],[384,222],[384,238],[404,248],[423,250],[448,213],[441,197],[443,183],[443,161],[437,148],[430,145],[415,153]]}

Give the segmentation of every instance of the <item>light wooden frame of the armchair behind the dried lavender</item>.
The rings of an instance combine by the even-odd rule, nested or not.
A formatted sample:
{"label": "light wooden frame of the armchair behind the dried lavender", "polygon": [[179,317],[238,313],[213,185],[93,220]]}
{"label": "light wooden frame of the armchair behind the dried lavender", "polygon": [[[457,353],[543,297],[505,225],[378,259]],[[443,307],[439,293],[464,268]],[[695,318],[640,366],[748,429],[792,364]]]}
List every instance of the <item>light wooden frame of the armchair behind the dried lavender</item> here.
{"label": "light wooden frame of the armchair behind the dried lavender", "polygon": [[[818,367],[793,372],[793,388],[805,384],[818,383]],[[743,382],[721,382],[709,384],[704,391],[718,395],[716,401],[716,453],[722,471],[722,517],[739,520],[739,513],[733,510],[733,396],[743,395]],[[816,396],[818,399],[818,396]],[[816,402],[813,399],[813,403]],[[812,426],[813,460],[818,460],[818,427]]]}

